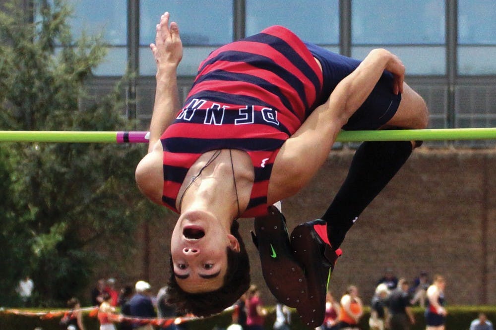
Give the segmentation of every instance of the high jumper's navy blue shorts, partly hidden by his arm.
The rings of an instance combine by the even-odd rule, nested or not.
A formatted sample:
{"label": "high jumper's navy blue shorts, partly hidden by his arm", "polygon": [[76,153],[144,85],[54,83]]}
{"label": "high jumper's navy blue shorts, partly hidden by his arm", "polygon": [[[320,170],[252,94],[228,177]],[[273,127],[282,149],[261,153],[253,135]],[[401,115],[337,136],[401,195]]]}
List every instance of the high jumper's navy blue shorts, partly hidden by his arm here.
{"label": "high jumper's navy blue shorts, partly hidden by his arm", "polygon": [[[360,61],[305,43],[322,65],[323,84],[318,104],[324,104],[336,85],[357,68]],[[388,122],[398,110],[401,94],[393,94],[393,75],[384,71],[364,104],[343,126],[345,130],[374,130]]]}

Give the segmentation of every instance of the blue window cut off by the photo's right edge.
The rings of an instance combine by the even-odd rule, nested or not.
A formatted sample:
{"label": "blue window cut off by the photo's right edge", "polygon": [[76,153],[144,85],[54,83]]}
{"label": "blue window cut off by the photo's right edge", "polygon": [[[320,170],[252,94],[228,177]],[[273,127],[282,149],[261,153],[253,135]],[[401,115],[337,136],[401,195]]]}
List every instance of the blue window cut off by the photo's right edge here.
{"label": "blue window cut off by the photo's right edge", "polygon": [[458,73],[496,73],[496,1],[458,1]]}

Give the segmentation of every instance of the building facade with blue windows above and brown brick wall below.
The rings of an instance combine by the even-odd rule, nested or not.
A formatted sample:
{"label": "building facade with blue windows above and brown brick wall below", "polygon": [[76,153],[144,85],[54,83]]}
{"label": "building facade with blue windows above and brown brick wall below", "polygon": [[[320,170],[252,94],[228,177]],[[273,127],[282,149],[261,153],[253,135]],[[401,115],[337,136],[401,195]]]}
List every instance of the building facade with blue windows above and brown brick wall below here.
{"label": "building facade with blue windows above and brown brick wall below", "polygon": [[[19,3],[27,10],[32,1]],[[109,44],[105,61],[88,82],[90,91],[95,96],[107,93],[127,69],[137,73],[126,91],[135,102],[128,103],[125,113],[139,119],[137,129],[147,129],[152,113],[155,62],[148,45],[154,42],[155,25],[166,10],[178,22],[184,43],[178,68],[183,99],[199,62],[212,50],[279,24],[343,55],[360,59],[373,48],[399,55],[407,68],[407,82],[428,103],[431,128],[496,127],[495,0],[67,1],[74,8],[70,24],[75,37],[83,30],[103,32]],[[496,144],[428,145],[484,148]],[[344,152],[332,157],[323,169],[332,175],[312,182],[287,201],[290,227],[320,214],[335,193],[328,187],[337,188],[344,179],[351,156]],[[423,270],[449,275],[451,302],[495,304],[494,164],[494,152],[489,150],[475,155],[416,153],[350,233],[344,245],[347,252],[333,279],[336,293],[355,282],[369,298],[375,284],[370,276],[379,276],[384,265],[391,265],[399,275],[409,277]],[[387,203],[381,203],[384,200]],[[167,280],[163,251],[169,251],[170,241],[163,233],[172,230],[176,216],[167,217],[156,228],[140,228],[149,230],[146,235],[138,233],[137,255],[144,262],[142,267],[130,265],[123,281],[143,274],[152,283]],[[246,233],[250,227],[248,221],[243,223]],[[159,243],[143,247],[149,241]],[[150,249],[148,255],[145,251]],[[256,268],[256,251],[251,245],[249,249]],[[458,285],[467,278],[472,280]],[[262,280],[261,274],[254,274],[255,282]],[[265,294],[269,295],[267,290]]]}

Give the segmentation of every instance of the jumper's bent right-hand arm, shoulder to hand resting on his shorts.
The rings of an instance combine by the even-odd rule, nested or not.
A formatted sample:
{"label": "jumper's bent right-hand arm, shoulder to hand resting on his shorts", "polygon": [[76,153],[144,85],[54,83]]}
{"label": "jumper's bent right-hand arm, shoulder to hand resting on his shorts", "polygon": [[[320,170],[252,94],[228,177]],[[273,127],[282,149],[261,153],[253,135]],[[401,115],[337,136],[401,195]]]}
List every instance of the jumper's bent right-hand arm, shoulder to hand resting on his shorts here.
{"label": "jumper's bent right-hand arm, shoulder to hand resting on his shorts", "polygon": [[393,92],[401,93],[405,76],[403,63],[386,50],[372,50],[336,86],[327,102],[317,107],[286,140],[272,170],[269,203],[296,194],[310,181],[327,159],[341,128],[365,102],[384,70],[394,75]]}

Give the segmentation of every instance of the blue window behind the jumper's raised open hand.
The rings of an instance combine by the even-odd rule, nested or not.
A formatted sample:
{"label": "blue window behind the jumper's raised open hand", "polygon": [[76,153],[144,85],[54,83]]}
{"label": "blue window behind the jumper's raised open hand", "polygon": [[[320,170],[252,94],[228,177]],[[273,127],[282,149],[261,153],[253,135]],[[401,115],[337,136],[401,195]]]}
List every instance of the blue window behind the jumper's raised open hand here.
{"label": "blue window behind the jumper's raised open hand", "polygon": [[149,45],[155,42],[160,16],[171,13],[179,25],[183,60],[179,75],[194,75],[198,65],[215,48],[233,41],[232,0],[141,0],[139,7],[139,67],[141,75],[155,75],[156,65]]}

